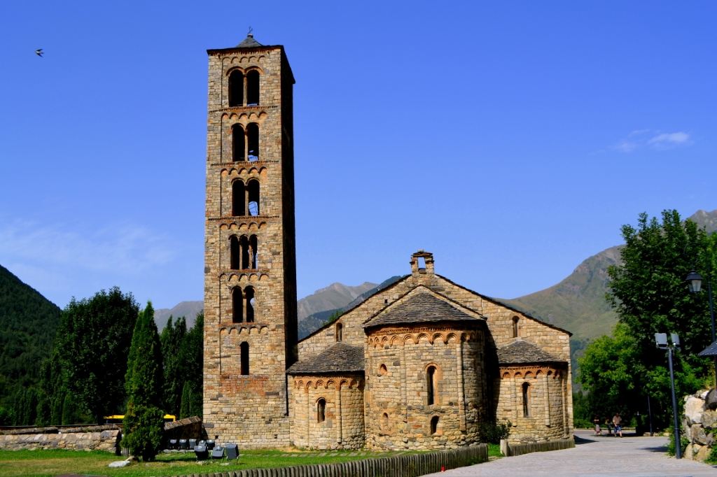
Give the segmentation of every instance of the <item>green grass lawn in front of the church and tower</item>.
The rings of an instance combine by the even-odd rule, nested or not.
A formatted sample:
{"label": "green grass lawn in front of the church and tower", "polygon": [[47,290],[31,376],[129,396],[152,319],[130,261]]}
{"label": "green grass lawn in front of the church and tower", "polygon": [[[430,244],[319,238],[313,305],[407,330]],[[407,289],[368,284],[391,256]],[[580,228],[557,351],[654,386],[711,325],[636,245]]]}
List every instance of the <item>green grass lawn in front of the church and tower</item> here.
{"label": "green grass lawn in front of the church and tower", "polygon": [[[62,473],[112,477],[179,476],[191,473],[201,474],[241,471],[245,468],[301,466],[378,457],[376,453],[366,453],[364,456],[349,456],[349,454],[355,453],[355,451],[351,450],[329,452],[329,454],[338,453],[336,456],[319,457],[318,454],[320,453],[312,452],[306,457],[292,457],[303,455],[303,453],[282,452],[276,449],[244,450],[242,451],[242,456],[239,456],[239,463],[232,462],[228,466],[222,466],[222,463],[199,465],[196,463],[194,453],[171,453],[157,456],[155,462],[136,462],[128,467],[109,468],[108,464],[110,462],[121,461],[123,457],[99,450],[91,452],[80,450],[0,450],[0,477],[51,477]],[[500,453],[500,450],[498,450],[498,453]],[[289,454],[289,456],[285,456],[286,454]],[[380,457],[394,454],[396,453],[382,453]],[[282,457],[282,455],[285,457]]]}

